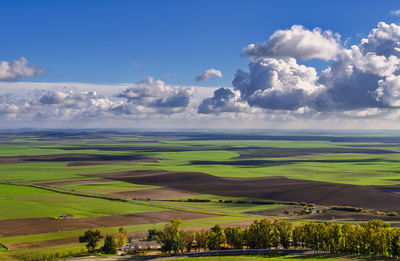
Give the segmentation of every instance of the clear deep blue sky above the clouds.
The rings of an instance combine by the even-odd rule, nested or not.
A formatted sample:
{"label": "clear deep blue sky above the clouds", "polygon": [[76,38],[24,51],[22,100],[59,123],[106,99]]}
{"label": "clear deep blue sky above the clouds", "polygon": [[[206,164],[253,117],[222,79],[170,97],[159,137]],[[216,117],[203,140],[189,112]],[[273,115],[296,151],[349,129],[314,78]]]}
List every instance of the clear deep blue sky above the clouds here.
{"label": "clear deep blue sky above the clouds", "polygon": [[49,69],[23,79],[29,81],[119,83],[151,75],[193,85],[195,76],[216,68],[224,77],[202,85],[230,86],[236,69],[247,68],[242,49],[275,30],[320,27],[354,43],[378,21],[399,20],[390,15],[398,8],[398,1],[377,0],[2,0],[0,60],[24,56]]}

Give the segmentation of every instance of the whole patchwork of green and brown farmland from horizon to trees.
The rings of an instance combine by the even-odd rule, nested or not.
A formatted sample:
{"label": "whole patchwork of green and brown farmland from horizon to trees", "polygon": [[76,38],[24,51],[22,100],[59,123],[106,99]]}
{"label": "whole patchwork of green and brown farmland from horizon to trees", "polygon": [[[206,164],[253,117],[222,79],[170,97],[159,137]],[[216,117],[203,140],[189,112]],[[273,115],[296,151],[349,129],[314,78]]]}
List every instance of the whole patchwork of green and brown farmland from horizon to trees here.
{"label": "whole patchwork of green and brown farmland from horizon to trees", "polygon": [[88,228],[142,238],[176,217],[188,230],[265,217],[396,226],[399,163],[390,133],[4,132],[0,259],[84,251]]}

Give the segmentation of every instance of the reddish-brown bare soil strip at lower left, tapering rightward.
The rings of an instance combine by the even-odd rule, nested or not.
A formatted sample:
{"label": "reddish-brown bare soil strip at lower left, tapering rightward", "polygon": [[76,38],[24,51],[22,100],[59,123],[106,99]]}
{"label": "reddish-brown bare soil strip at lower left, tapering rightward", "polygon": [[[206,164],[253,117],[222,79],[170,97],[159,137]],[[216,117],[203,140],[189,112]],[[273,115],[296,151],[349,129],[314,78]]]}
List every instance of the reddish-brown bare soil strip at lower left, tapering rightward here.
{"label": "reddish-brown bare soil strip at lower left, tapering rightward", "polygon": [[40,234],[98,227],[114,227],[167,222],[171,218],[182,220],[216,217],[217,215],[167,210],[118,216],[79,219],[25,218],[0,221],[0,237]]}

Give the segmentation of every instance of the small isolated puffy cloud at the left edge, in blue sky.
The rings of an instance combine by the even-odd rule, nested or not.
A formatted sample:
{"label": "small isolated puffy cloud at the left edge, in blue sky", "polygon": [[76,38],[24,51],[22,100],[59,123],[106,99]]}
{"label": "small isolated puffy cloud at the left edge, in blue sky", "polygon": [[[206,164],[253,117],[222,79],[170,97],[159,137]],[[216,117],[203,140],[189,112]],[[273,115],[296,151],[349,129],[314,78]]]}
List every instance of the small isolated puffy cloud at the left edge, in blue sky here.
{"label": "small isolated puffy cloud at the left edge, in blue sky", "polygon": [[15,81],[21,77],[34,77],[47,70],[36,65],[28,65],[28,59],[21,57],[11,63],[0,61],[0,81]]}

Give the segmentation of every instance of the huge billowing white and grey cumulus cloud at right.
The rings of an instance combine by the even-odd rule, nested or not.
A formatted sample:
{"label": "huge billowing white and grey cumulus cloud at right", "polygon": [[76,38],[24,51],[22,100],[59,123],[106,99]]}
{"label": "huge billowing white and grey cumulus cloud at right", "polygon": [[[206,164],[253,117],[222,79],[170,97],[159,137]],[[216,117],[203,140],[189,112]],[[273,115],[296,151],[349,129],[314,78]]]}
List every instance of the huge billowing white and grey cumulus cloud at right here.
{"label": "huge billowing white and grey cumulus cloud at right", "polygon": [[[345,48],[340,36],[302,26],[275,32],[249,45],[249,72],[232,82],[237,102],[267,110],[345,112],[400,106],[400,26],[380,22],[358,45]],[[320,75],[296,60],[330,60]],[[215,98],[215,97],[213,97]],[[211,98],[212,99],[212,98]],[[210,100],[205,100],[205,102]],[[215,103],[203,113],[220,113]]]}

